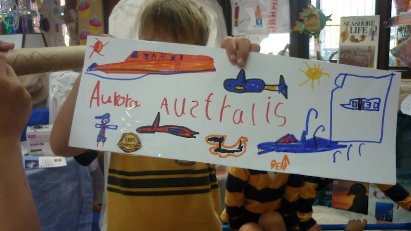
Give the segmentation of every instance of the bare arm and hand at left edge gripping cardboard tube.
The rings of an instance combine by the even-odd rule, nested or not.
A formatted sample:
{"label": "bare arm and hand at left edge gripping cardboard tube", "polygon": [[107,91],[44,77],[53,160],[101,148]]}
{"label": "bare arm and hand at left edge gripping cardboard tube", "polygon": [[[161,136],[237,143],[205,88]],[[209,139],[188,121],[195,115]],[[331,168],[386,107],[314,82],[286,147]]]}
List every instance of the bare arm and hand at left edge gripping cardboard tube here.
{"label": "bare arm and hand at left edge gripping cardboard tube", "polygon": [[[14,44],[0,41],[0,49],[12,47]],[[41,230],[20,146],[30,117],[31,97],[4,55],[0,55],[0,108],[0,230]]]}

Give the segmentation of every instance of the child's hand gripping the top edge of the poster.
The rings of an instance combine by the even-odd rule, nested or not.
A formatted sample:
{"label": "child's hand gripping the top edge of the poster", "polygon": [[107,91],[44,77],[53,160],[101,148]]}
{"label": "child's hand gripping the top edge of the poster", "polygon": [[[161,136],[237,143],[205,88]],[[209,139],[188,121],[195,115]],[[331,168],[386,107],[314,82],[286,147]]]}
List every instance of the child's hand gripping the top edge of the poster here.
{"label": "child's hand gripping the top edge of the poster", "polygon": [[246,64],[250,51],[260,51],[260,45],[251,43],[251,41],[246,37],[228,36],[221,42],[221,48],[225,48],[229,60],[236,62],[240,67]]}

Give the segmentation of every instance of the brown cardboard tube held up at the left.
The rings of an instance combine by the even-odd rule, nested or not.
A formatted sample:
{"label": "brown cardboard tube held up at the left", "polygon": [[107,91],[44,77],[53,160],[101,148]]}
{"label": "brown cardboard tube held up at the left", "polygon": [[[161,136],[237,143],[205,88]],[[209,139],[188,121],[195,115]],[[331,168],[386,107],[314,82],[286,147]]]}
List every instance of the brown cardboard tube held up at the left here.
{"label": "brown cardboard tube held up at the left", "polygon": [[24,48],[0,51],[17,76],[82,68],[86,46]]}

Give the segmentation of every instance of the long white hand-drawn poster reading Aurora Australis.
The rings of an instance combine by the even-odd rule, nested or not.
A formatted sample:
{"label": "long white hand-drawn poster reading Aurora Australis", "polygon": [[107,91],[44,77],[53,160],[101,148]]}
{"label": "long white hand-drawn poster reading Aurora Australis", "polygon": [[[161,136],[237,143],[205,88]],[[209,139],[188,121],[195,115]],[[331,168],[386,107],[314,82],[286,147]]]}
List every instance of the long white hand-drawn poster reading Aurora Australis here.
{"label": "long white hand-drawn poster reading Aurora Australis", "polygon": [[394,184],[399,85],[385,70],[258,53],[240,68],[219,48],[90,37],[70,146]]}

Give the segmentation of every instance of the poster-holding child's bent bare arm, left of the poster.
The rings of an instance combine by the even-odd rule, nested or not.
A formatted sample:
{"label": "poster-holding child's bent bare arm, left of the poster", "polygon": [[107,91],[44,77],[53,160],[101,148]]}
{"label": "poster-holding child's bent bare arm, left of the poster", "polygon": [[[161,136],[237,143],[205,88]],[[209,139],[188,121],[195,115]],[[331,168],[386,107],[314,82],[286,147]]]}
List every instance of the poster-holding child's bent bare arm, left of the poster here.
{"label": "poster-holding child's bent bare arm, left of the poster", "polygon": [[74,82],[66,101],[61,107],[54,121],[50,134],[50,146],[53,153],[62,157],[73,157],[87,151],[84,148],[69,147],[71,123],[73,121],[74,106],[76,106],[77,94],[79,92],[81,75]]}

